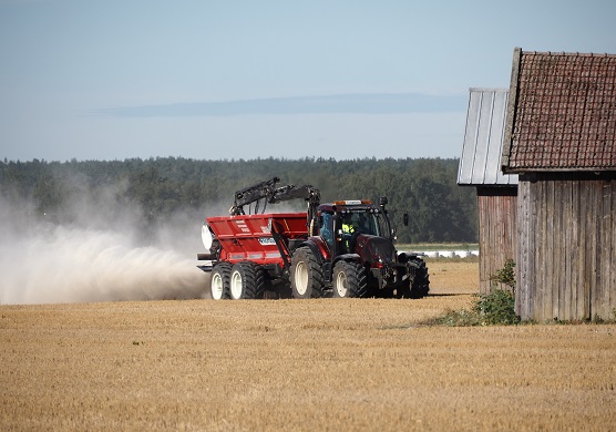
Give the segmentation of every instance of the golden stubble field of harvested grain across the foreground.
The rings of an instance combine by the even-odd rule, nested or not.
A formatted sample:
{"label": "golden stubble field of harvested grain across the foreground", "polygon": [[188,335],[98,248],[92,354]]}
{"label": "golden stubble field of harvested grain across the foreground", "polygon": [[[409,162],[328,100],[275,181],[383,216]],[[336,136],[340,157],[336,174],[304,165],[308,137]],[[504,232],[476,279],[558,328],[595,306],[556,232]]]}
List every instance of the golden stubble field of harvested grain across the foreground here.
{"label": "golden stubble field of harvested grain across the foreground", "polygon": [[0,429],[613,430],[616,327],[422,325],[475,271],[430,264],[421,300],[1,306]]}

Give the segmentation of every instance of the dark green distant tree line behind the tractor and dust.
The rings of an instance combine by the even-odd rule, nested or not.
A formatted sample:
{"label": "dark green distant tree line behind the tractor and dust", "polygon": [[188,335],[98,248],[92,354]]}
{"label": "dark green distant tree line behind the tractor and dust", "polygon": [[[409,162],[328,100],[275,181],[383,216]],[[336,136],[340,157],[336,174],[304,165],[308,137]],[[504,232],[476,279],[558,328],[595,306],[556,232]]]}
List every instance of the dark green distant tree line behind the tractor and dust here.
{"label": "dark green distant tree line behind the tractor and dust", "polygon": [[[25,198],[33,213],[60,219],[70,217],[75,200],[111,194],[116,203],[138,205],[147,222],[160,223],[177,212],[222,215],[235,191],[277,176],[280,185],[319,188],[324,203],[357,198],[377,203],[387,196],[401,243],[476,241],[476,198],[473,188],[456,185],[458,164],[456,158],[4,160],[0,188],[4,200]],[[301,203],[296,206],[302,209]],[[408,227],[402,226],[403,213],[410,216]]]}

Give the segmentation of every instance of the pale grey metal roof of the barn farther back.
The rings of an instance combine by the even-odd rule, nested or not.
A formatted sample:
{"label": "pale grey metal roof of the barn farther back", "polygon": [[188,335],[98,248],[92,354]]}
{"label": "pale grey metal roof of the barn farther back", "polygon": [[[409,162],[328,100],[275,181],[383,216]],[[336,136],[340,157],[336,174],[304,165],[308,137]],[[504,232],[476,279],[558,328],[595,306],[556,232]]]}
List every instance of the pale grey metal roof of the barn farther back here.
{"label": "pale grey metal roof of the barn farther back", "polygon": [[458,184],[515,186],[517,175],[501,172],[509,91],[471,89]]}

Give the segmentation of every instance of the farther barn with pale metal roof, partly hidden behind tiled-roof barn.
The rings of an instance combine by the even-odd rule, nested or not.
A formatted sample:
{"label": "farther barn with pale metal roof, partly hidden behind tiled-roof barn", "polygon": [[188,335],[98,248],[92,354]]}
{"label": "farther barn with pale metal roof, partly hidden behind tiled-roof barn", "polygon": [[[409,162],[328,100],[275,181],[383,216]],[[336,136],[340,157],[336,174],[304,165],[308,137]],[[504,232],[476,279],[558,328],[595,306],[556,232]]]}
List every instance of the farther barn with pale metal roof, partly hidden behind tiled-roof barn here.
{"label": "farther barn with pale metal roof, partly hidden behind tiled-roof barn", "polygon": [[470,90],[458,169],[458,184],[478,193],[480,294],[490,294],[491,277],[517,256],[517,175],[501,172],[507,100],[507,90]]}

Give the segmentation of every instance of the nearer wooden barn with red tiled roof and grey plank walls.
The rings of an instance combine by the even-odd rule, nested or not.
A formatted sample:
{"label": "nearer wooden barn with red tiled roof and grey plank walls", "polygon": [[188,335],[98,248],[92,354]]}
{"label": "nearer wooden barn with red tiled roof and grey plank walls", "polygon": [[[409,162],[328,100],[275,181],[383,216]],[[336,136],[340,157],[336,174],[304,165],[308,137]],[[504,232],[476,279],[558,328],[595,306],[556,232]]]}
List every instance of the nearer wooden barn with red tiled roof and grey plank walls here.
{"label": "nearer wooden barn with red tiled roof and grey plank walls", "polygon": [[516,312],[616,309],[616,55],[514,50],[502,169],[519,174]]}

